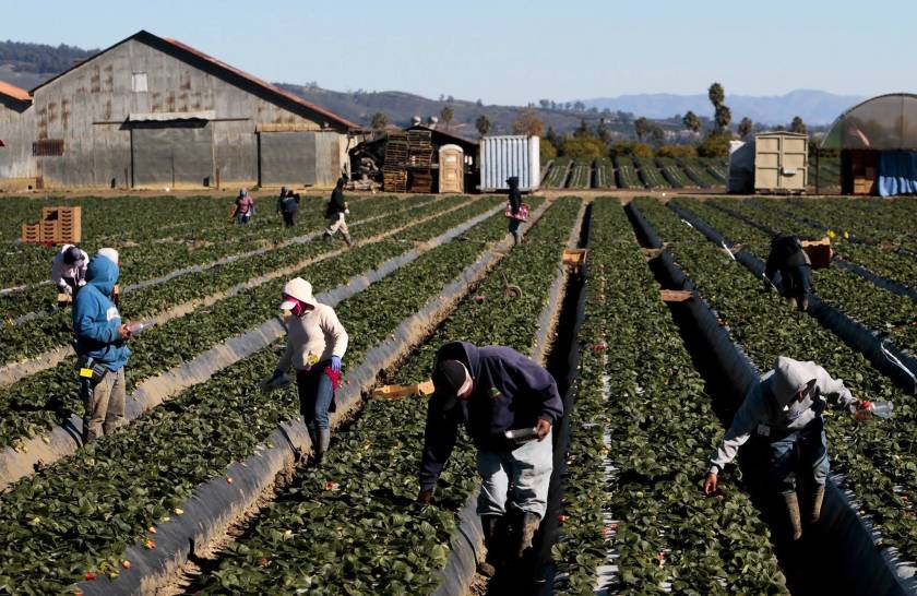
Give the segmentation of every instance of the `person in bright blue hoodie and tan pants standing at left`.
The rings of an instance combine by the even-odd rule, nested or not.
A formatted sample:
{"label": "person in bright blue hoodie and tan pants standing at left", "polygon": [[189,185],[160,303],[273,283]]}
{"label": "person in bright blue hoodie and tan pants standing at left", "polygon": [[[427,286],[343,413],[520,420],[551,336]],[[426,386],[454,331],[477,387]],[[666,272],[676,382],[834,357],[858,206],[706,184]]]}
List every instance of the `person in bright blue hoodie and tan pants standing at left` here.
{"label": "person in bright blue hoodie and tan pants standing at left", "polygon": [[83,398],[83,443],[110,434],[124,422],[124,365],[130,326],[111,301],[118,283],[118,251],[98,251],[86,269],[86,285],[73,302],[73,333]]}

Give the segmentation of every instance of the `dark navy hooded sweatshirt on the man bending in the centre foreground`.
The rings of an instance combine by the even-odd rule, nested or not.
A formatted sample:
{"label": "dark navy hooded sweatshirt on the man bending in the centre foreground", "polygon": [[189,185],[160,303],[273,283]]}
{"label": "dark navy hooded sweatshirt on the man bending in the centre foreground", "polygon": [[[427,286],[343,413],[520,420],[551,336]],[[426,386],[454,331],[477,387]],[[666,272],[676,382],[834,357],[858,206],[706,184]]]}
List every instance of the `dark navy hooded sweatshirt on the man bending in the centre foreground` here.
{"label": "dark navy hooded sweatshirt on the man bending in the centre foreground", "polygon": [[531,358],[504,346],[477,347],[466,342],[444,345],[437,362],[458,360],[474,380],[467,400],[448,407],[448,400],[432,395],[427,407],[427,429],[420,462],[420,489],[437,482],[464,424],[480,451],[511,451],[503,431],[534,427],[539,419],[555,425],[563,402],[553,377]]}

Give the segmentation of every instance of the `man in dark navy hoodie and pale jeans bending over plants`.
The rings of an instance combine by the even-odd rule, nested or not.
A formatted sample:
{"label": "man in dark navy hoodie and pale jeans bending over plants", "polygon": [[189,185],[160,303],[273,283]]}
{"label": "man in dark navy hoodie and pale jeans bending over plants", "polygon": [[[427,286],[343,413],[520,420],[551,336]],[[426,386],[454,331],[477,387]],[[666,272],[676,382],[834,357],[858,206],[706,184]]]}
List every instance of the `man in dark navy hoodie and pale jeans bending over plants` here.
{"label": "man in dark navy hoodie and pale jeans bending over plants", "polygon": [[[466,342],[442,346],[433,366],[433,395],[427,410],[420,492],[429,503],[464,425],[477,448],[481,476],[477,513],[484,528],[488,559],[479,571],[496,572],[495,544],[509,525],[509,509],[520,520],[517,556],[532,547],[547,510],[553,468],[551,427],[563,415],[563,402],[553,377],[531,358],[503,346],[477,347]],[[507,431],[528,432],[510,438]]]}

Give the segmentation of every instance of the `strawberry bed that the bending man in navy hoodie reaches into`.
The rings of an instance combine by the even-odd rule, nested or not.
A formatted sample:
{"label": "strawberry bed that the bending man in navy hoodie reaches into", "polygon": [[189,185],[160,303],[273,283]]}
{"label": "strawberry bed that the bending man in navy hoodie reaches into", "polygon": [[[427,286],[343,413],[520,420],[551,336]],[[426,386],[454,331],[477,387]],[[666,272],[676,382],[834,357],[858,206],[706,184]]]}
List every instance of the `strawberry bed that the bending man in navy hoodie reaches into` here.
{"label": "strawberry bed that the bending man in navy hoodie reaches into", "polygon": [[[531,351],[538,313],[555,277],[546,273],[556,270],[580,211],[579,200],[556,202],[526,240],[473,290],[484,299],[464,300],[390,381],[428,378],[436,349],[457,337]],[[522,288],[521,298],[503,296],[503,274]],[[443,581],[441,570],[458,528],[458,513],[476,487],[476,473],[474,449],[462,433],[436,504],[413,502],[426,413],[424,397],[369,402],[348,429],[345,449],[332,449],[321,469],[298,474],[192,591],[288,594],[321,586],[334,594],[433,592]],[[319,544],[322,548],[313,549]]]}

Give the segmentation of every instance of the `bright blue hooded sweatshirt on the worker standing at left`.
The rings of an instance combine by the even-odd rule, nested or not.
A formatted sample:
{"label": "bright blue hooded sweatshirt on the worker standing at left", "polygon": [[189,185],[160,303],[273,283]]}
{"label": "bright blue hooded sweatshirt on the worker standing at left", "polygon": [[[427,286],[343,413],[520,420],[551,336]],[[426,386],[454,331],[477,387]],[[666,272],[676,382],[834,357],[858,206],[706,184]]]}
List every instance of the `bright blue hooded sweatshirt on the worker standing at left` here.
{"label": "bright blue hooded sweatshirt on the worker standing at left", "polygon": [[86,285],[73,302],[76,354],[90,356],[111,371],[123,367],[131,355],[118,335],[121,314],[111,301],[118,275],[118,265],[110,259],[93,257],[86,269]]}

